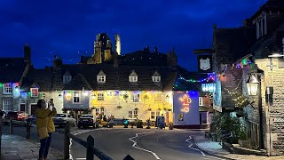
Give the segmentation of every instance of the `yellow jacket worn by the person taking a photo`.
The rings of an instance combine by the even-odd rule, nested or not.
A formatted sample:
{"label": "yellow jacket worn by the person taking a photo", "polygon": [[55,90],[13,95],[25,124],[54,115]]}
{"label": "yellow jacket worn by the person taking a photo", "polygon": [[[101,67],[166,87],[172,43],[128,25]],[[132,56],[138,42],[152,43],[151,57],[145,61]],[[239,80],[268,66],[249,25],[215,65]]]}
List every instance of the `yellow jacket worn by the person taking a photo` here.
{"label": "yellow jacket worn by the person taking a photo", "polygon": [[[56,109],[53,109],[52,112],[56,112]],[[49,137],[47,124],[48,116],[51,115],[51,109],[49,108],[36,108],[36,128],[38,137],[40,140]]]}

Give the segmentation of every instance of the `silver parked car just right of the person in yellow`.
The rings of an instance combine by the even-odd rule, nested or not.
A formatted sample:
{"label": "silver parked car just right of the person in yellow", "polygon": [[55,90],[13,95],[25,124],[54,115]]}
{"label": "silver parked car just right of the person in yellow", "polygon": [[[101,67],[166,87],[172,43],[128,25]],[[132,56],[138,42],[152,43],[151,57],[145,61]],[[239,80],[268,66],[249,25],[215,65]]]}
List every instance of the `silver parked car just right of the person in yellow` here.
{"label": "silver parked car just right of the person in yellow", "polygon": [[57,114],[56,116],[53,117],[53,122],[54,125],[59,125],[59,126],[66,125],[67,123],[73,126],[76,125],[75,118],[72,117],[70,114]]}

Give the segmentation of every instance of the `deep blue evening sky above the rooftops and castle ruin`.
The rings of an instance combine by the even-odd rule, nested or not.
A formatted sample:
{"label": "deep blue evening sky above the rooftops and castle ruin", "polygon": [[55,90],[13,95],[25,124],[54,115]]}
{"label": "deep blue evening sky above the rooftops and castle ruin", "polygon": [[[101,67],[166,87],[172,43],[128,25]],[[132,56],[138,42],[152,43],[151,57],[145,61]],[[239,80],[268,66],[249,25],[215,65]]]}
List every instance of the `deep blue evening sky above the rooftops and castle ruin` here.
{"label": "deep blue evening sky above the rooftops and castle ruin", "polygon": [[195,71],[194,49],[210,48],[213,24],[234,28],[266,0],[0,0],[0,57],[22,57],[32,48],[36,68],[91,56],[95,36],[119,33],[122,54],[142,50],[168,52],[175,46],[178,64]]}

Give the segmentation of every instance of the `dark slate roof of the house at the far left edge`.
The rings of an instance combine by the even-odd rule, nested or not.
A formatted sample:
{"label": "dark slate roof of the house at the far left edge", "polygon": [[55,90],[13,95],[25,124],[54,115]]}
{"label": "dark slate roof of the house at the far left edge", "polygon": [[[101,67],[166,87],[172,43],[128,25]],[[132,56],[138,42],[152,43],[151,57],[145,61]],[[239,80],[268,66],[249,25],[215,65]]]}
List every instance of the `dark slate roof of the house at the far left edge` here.
{"label": "dark slate roof of the house at the far left edge", "polygon": [[20,82],[26,67],[24,58],[0,58],[0,83]]}

